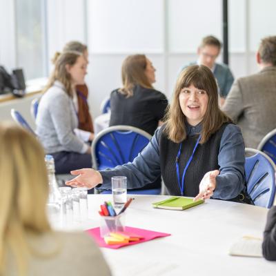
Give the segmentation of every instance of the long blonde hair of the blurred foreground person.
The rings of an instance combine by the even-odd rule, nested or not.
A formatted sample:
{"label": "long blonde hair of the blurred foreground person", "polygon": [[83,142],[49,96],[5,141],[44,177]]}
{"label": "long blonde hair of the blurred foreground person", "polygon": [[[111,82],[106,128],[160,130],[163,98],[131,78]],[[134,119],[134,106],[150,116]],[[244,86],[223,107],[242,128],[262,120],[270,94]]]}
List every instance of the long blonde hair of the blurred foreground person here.
{"label": "long blonde hair of the blurred foreground person", "polygon": [[8,252],[16,260],[19,275],[25,275],[30,255],[26,235],[50,232],[44,151],[26,130],[4,122],[0,152],[0,275],[6,275]]}

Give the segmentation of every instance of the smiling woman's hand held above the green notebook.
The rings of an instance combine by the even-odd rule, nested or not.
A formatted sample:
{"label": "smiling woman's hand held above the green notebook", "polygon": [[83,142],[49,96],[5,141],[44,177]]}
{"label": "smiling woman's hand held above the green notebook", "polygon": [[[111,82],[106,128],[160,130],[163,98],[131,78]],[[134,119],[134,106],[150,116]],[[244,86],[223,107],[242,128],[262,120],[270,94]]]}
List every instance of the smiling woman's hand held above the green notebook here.
{"label": "smiling woman's hand held above the green notebook", "polygon": [[194,201],[198,199],[209,199],[212,197],[217,182],[215,178],[219,175],[219,170],[211,170],[206,172],[199,184],[199,194],[194,198]]}

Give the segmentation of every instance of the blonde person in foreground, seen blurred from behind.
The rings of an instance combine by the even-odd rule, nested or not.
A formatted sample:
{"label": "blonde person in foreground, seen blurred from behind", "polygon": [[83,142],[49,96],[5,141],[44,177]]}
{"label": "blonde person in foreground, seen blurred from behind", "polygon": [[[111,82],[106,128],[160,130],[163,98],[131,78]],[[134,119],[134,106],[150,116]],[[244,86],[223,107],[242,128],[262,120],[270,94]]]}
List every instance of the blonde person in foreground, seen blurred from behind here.
{"label": "blonde person in foreground, seen blurred from behind", "polygon": [[37,139],[2,122],[0,152],[1,275],[110,275],[99,248],[85,233],[51,229],[48,177]]}

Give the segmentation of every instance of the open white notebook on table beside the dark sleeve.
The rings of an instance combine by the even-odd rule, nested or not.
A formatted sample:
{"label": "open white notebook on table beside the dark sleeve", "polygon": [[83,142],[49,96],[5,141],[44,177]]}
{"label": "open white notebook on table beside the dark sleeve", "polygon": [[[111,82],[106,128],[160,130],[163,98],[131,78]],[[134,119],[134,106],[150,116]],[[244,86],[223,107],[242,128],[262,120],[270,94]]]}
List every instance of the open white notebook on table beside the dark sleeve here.
{"label": "open white notebook on table beside the dark sleeve", "polygon": [[263,257],[262,239],[244,236],[230,247],[229,254],[233,256]]}

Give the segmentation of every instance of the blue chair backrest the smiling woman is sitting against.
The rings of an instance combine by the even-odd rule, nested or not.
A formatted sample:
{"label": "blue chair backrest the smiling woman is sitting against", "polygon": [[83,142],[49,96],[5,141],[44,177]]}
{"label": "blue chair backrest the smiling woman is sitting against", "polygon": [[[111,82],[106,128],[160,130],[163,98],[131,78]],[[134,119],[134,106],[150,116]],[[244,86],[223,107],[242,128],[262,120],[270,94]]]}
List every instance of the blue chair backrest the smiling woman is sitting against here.
{"label": "blue chair backrest the smiling woman is sitting against", "polygon": [[273,161],[264,152],[246,148],[247,191],[254,204],[270,208],[275,197],[275,170]]}

